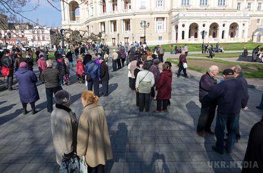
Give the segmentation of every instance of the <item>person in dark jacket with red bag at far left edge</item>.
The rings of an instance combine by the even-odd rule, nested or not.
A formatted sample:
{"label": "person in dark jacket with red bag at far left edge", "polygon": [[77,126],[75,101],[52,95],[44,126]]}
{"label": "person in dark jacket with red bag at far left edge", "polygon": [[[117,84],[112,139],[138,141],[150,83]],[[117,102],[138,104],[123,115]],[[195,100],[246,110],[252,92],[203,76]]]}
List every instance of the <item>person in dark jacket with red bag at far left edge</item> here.
{"label": "person in dark jacket with red bag at far left edge", "polygon": [[6,49],[3,51],[3,57],[1,58],[1,65],[3,67],[6,67],[9,71],[8,79],[6,80],[6,89],[9,91],[12,90],[12,82],[13,82],[13,76],[14,76],[14,62],[12,61],[12,58],[10,57],[10,51]]}

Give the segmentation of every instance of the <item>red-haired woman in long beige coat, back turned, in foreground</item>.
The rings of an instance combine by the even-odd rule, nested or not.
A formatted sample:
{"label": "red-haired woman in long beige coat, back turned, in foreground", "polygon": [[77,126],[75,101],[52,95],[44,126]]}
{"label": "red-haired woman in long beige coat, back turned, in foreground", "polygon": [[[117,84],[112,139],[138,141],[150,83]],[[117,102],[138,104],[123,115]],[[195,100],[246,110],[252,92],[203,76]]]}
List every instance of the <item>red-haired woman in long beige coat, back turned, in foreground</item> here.
{"label": "red-haired woman in long beige coat, back turned, in foreground", "polygon": [[78,125],[77,154],[85,156],[88,172],[105,172],[106,161],[113,158],[105,112],[93,91],[83,91],[81,98],[84,111]]}

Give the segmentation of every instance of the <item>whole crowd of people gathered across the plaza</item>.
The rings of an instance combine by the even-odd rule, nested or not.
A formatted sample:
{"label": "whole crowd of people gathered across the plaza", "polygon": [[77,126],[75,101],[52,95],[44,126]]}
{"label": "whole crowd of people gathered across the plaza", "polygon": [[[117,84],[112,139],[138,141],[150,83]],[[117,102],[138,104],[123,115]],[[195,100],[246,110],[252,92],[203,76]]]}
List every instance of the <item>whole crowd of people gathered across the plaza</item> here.
{"label": "whole crowd of people gathered across the plaza", "polygon": [[[83,48],[82,48],[83,47]],[[112,60],[112,69],[117,71],[127,66],[129,88],[136,97],[136,106],[139,111],[150,111],[152,100],[156,100],[154,113],[168,111],[172,98],[172,64],[164,62],[163,48],[158,45],[154,50],[143,44],[135,42],[131,46],[118,44],[113,53],[109,55],[109,48],[103,44],[95,44],[85,48],[64,50],[58,48],[55,52],[55,68],[53,60],[39,53],[37,66],[39,69],[39,80],[45,85],[47,111],[51,113],[51,130],[57,163],[60,169],[67,169],[69,163],[66,158],[82,158],[87,163],[87,169],[91,172],[104,172],[108,159],[113,158],[107,120],[103,107],[98,106],[101,96],[109,94],[109,68],[108,61]],[[171,52],[174,50],[171,46]],[[91,49],[92,48],[92,49]],[[80,49],[80,52],[76,51]],[[93,51],[91,55],[89,51]],[[178,51],[176,53],[179,53]],[[187,45],[179,55],[179,70],[185,78],[188,78],[187,69]],[[73,59],[76,59],[74,64]],[[28,59],[28,60],[27,60]],[[23,107],[23,113],[27,114],[27,104],[32,109],[32,114],[37,113],[35,102],[39,100],[37,90],[37,76],[33,72],[33,53],[29,50],[24,59],[18,49],[4,51],[1,57],[3,67],[9,69],[7,88],[12,90],[13,73],[19,83],[19,97]],[[74,72],[72,67],[76,66]],[[161,68],[160,68],[161,67]],[[160,71],[161,69],[161,71]],[[86,84],[88,91],[81,95],[84,110],[78,121],[75,113],[70,109],[71,95],[62,89],[64,84],[70,84],[69,76],[73,73],[80,83]],[[114,73],[114,72],[113,72]],[[242,136],[239,134],[240,110],[248,109],[248,83],[242,74],[240,66],[224,69],[222,75],[224,80],[217,82],[215,76],[219,74],[219,67],[212,65],[199,82],[199,101],[201,102],[201,113],[197,124],[197,134],[201,137],[206,134],[215,134],[217,142],[212,149],[219,154],[231,153],[235,142]],[[102,89],[99,89],[99,84]],[[55,109],[53,109],[53,95],[55,95]],[[262,95],[263,100],[263,95]],[[154,101],[153,101],[154,102]],[[262,101],[263,102],[263,101]],[[263,109],[263,103],[259,109]],[[215,131],[211,125],[217,118]],[[255,141],[259,136],[259,130],[263,122],[257,123],[251,130],[248,140],[248,149],[245,160],[260,162],[260,153],[253,151],[253,145],[262,145],[261,140]],[[224,138],[227,130],[227,138]],[[256,131],[256,132],[252,132]],[[224,142],[226,141],[226,145]],[[78,165],[78,164],[77,164]],[[262,163],[260,163],[260,168]],[[246,169],[244,169],[244,172]],[[247,170],[249,172],[250,170]]]}

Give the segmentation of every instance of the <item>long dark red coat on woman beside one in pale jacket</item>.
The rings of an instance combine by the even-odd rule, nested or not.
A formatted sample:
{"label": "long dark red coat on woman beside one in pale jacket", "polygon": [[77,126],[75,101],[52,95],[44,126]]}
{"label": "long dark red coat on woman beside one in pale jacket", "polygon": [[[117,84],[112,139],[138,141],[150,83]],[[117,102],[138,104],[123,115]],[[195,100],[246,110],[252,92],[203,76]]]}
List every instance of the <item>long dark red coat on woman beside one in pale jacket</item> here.
{"label": "long dark red coat on woman beside one in pale jacket", "polygon": [[170,70],[165,70],[161,73],[156,90],[158,91],[156,95],[157,100],[169,100],[171,98],[172,72]]}

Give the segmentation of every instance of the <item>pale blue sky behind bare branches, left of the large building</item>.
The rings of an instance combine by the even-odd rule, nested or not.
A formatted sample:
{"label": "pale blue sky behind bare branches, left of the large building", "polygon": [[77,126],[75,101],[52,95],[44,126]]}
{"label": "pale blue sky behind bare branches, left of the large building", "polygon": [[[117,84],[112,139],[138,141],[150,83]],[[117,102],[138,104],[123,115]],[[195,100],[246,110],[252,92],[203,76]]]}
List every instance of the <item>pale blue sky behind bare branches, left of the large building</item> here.
{"label": "pale blue sky behind bare branches, left of the large building", "polygon": [[[38,0],[30,0],[26,7],[24,8],[25,10],[32,9],[35,4],[37,3]],[[52,0],[49,0],[53,5],[58,8],[60,8],[60,1],[55,1],[53,2]],[[27,17],[28,19],[31,19],[33,21],[39,21],[39,24],[43,26],[53,26],[57,27],[61,25],[61,12],[56,10],[51,6],[51,4],[48,3],[46,0],[39,0],[39,6],[37,10],[30,11],[30,12],[23,12],[22,15]],[[27,19],[23,19],[24,21],[27,21]]]}

